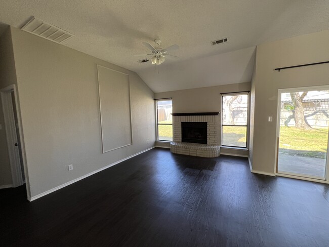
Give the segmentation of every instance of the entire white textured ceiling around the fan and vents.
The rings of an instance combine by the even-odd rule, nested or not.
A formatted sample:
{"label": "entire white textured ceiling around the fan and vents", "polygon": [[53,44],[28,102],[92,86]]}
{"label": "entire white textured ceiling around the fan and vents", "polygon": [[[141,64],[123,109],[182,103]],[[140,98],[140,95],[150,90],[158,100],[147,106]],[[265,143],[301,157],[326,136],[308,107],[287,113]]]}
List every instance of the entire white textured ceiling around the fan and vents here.
{"label": "entire white textured ceiling around the fan and vents", "polygon": [[[250,81],[255,46],[329,29],[328,13],[328,0],[0,1],[0,23],[35,16],[63,28],[76,35],[65,46],[136,71],[154,92]],[[158,73],[133,56],[155,38],[181,47]]]}

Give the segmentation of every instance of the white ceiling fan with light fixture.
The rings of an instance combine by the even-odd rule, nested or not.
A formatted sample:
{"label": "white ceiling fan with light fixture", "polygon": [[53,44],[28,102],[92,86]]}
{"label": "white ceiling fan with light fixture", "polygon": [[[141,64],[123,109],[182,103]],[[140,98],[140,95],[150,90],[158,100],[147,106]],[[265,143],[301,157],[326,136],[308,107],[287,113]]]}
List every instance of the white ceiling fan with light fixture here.
{"label": "white ceiling fan with light fixture", "polygon": [[[154,40],[155,45],[159,46],[161,43],[160,39],[155,39]],[[166,49],[162,49],[161,47],[154,48],[151,44],[147,42],[142,43],[144,46],[146,46],[148,49],[151,50],[152,53],[150,54],[139,54],[139,55],[134,55],[134,56],[150,56],[152,55],[153,57],[151,58],[152,64],[160,65],[161,63],[165,62],[166,58],[178,58],[177,56],[170,55],[168,54],[168,51],[174,51],[179,49],[178,45],[172,45],[170,47],[167,47]]]}

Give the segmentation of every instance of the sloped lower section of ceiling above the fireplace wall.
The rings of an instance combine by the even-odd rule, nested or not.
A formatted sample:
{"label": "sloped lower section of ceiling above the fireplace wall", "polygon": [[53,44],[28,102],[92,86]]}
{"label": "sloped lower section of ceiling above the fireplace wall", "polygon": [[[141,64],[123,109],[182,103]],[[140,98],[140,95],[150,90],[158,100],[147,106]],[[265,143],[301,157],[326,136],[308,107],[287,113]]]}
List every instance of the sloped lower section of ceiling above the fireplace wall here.
{"label": "sloped lower section of ceiling above the fireplace wall", "polygon": [[163,63],[144,69],[139,74],[152,81],[156,92],[218,86],[251,81],[256,48],[186,60],[184,63]]}

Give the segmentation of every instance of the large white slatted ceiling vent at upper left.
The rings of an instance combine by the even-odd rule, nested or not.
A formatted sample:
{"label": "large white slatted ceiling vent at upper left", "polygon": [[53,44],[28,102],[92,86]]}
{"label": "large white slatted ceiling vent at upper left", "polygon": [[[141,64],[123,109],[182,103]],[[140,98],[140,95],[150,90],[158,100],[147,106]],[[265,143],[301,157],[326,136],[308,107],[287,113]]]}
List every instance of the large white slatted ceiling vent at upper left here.
{"label": "large white slatted ceiling vent at upper left", "polygon": [[63,43],[71,37],[74,37],[72,33],[35,17],[32,17],[32,19],[29,20],[21,29],[40,37],[47,38],[56,43]]}

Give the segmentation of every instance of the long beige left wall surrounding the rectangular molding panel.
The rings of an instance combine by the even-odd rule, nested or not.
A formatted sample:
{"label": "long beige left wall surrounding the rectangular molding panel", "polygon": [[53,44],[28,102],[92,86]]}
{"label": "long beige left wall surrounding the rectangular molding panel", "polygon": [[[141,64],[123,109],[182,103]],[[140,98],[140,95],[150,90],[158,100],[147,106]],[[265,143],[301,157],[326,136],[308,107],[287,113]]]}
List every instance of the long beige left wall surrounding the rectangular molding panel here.
{"label": "long beige left wall surrounding the rectangular molding panel", "polygon": [[[154,94],[135,72],[11,29],[32,197],[154,145]],[[107,153],[97,64],[130,75],[133,145]]]}

